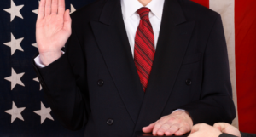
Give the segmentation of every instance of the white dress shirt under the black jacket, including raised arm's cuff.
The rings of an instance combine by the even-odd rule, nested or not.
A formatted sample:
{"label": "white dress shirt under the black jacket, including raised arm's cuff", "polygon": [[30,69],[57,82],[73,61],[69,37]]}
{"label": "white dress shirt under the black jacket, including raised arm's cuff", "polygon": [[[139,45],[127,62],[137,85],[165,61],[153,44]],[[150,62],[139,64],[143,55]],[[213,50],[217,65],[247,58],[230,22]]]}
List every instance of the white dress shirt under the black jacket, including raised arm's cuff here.
{"label": "white dress shirt under the black jacket, including raised arm's cuff", "polygon": [[[120,1],[121,1],[123,19],[125,22],[125,29],[127,32],[127,36],[129,39],[132,56],[133,56],[136,31],[141,20],[139,14],[137,14],[137,9],[142,8],[143,4],[137,0],[120,0]],[[159,37],[164,2],[165,0],[152,0],[150,3],[148,3],[147,6],[145,6],[151,10],[149,12],[148,17],[154,31],[154,46],[155,46],[154,48],[156,48],[156,43]],[[40,55],[38,55],[34,59],[34,61],[39,68],[44,67],[42,61],[40,60]]]}

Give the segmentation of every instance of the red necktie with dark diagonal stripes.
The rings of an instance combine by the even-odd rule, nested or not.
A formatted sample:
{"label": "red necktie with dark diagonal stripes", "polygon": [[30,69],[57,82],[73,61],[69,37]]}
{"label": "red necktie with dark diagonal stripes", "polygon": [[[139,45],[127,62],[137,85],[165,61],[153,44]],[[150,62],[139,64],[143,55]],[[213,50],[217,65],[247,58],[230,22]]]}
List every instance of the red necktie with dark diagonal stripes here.
{"label": "red necktie with dark diagonal stripes", "polygon": [[137,10],[140,15],[140,24],[137,27],[134,46],[134,62],[137,73],[143,85],[144,92],[148,86],[148,79],[154,60],[154,32],[148,18],[150,9]]}

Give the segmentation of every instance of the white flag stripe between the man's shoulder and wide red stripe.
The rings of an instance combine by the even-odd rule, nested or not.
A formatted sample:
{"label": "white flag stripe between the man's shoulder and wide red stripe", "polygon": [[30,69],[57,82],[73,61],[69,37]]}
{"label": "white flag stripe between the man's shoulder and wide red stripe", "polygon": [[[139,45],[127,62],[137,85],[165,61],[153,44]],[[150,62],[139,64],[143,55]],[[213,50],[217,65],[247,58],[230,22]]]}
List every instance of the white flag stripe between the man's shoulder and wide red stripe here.
{"label": "white flag stripe between the man's shoulder and wide red stripe", "polygon": [[233,125],[238,128],[237,98],[236,98],[236,57],[235,57],[235,0],[209,0],[210,9],[221,14],[226,37],[229,60],[230,79],[233,90],[233,100],[236,105],[236,119]]}

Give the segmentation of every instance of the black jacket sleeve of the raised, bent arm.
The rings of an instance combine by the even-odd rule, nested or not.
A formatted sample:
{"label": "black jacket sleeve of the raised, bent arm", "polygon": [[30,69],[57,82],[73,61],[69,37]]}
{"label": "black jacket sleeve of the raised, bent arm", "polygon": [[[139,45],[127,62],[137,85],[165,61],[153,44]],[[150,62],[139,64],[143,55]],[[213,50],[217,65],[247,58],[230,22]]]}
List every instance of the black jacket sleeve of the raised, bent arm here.
{"label": "black jacket sleeve of the raised, bent arm", "polygon": [[65,47],[65,54],[49,66],[32,64],[55,117],[65,128],[78,130],[87,123],[90,105],[85,58],[74,30]]}

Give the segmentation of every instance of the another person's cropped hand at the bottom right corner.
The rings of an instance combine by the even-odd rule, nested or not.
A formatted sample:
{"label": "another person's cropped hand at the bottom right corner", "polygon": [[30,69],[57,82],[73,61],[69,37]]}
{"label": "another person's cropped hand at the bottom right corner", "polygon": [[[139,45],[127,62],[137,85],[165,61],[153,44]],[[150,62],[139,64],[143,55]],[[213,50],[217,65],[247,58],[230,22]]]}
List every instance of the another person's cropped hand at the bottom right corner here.
{"label": "another person's cropped hand at the bottom right corner", "polygon": [[205,123],[193,126],[189,137],[256,137],[256,134],[240,132],[229,123],[215,123],[212,126]]}

